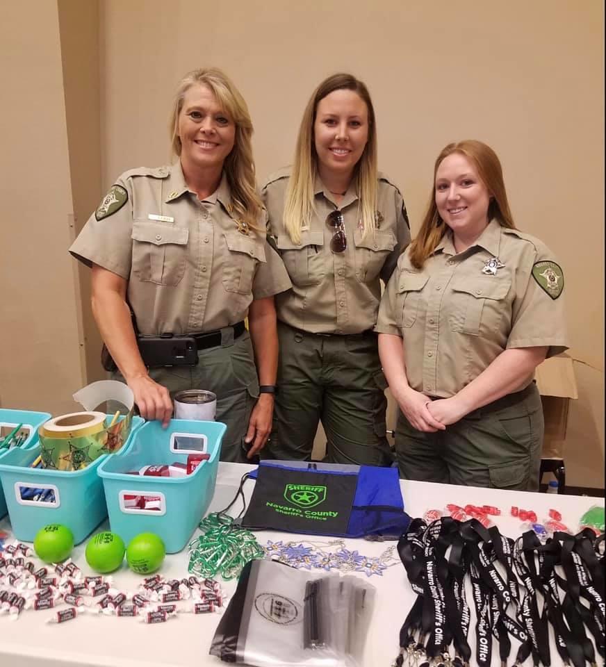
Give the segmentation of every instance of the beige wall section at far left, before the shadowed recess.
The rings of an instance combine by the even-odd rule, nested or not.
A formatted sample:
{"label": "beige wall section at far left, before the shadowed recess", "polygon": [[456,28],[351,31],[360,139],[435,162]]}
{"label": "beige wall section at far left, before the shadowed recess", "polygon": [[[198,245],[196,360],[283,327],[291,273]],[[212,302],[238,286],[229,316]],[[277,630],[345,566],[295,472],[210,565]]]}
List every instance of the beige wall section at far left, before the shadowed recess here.
{"label": "beige wall section at far left, before the shadowed recess", "polygon": [[65,255],[73,208],[58,12],[22,1],[0,15],[0,404],[60,414],[84,374]]}

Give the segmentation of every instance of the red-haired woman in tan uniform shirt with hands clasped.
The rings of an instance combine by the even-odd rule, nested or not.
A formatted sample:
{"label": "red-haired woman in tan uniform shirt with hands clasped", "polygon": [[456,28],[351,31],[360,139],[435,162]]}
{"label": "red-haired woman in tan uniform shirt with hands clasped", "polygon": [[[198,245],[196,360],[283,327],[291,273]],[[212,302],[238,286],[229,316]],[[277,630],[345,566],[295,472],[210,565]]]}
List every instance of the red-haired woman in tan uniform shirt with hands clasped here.
{"label": "red-haired woman in tan uniform shirt with hands clasped", "polygon": [[474,140],[445,147],[377,323],[400,406],[402,477],[537,490],[543,412],[533,376],[568,347],[563,290],[550,249],[514,226],[494,151]]}

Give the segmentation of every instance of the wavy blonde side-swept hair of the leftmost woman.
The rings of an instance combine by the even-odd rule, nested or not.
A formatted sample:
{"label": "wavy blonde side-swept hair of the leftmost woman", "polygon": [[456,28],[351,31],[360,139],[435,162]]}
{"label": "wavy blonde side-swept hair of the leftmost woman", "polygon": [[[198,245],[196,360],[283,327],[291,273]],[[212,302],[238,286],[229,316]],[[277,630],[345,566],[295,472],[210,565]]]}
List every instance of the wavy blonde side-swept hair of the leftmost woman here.
{"label": "wavy blonde side-swept hair of the leftmost woman", "polygon": [[244,98],[229,79],[216,67],[204,67],[188,72],[177,87],[174,106],[170,120],[172,151],[181,155],[181,139],[179,138],[179,114],[183,108],[186,92],[196,84],[208,86],[223,110],[231,116],[236,124],[234,148],[225,158],[223,170],[231,190],[231,204],[234,206],[234,217],[243,220],[249,227],[265,231],[259,224],[263,203],[256,191],[254,159],[252,156],[252,120]]}

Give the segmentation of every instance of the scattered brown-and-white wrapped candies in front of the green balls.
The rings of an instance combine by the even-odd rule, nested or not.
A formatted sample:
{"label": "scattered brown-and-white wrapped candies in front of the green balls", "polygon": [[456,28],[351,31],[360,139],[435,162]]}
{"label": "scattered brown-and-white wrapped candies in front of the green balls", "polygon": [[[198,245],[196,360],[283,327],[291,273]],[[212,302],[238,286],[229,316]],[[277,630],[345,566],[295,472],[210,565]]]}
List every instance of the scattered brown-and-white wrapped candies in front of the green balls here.
{"label": "scattered brown-and-white wrapped candies in front of the green balls", "polygon": [[69,605],[47,618],[64,623],[80,614],[137,616],[142,623],[163,623],[179,613],[220,611],[227,601],[215,579],[143,579],[135,593],[113,586],[113,577],[85,577],[76,563],[66,561],[36,568],[28,545],[14,542],[0,557],[0,617],[17,620],[24,610],[42,611]]}

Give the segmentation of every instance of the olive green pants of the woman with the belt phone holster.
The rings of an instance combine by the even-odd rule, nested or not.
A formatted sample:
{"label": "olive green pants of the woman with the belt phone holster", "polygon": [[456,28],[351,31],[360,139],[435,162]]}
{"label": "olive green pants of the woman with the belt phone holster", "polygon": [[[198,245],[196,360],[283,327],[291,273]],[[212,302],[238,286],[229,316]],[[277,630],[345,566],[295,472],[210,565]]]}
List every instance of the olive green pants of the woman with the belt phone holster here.
{"label": "olive green pants of the woman with the belt phone holster", "polygon": [[[149,376],[170,391],[171,399],[183,389],[206,389],[217,395],[215,420],[227,425],[221,461],[250,463],[244,438],[254,404],[259,398],[259,378],[254,365],[250,334],[234,340],[234,329],[221,330],[222,343],[198,352],[197,366],[150,368]],[[124,381],[120,373],[113,376]]]}

